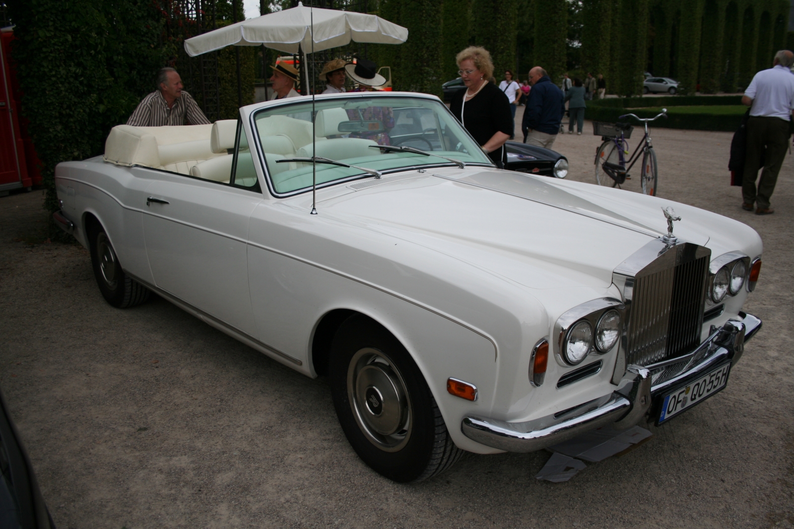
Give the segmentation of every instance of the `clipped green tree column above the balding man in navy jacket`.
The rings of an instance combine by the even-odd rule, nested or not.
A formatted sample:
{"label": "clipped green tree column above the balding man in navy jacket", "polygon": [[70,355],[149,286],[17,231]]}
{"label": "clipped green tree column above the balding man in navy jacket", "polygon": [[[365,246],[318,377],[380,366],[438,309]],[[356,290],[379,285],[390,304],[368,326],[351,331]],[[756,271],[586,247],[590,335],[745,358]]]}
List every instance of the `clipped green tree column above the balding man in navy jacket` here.
{"label": "clipped green tree column above the balding man in navy jacket", "polygon": [[534,8],[534,65],[549,72],[553,83],[560,83],[568,62],[568,2],[536,0]]}

